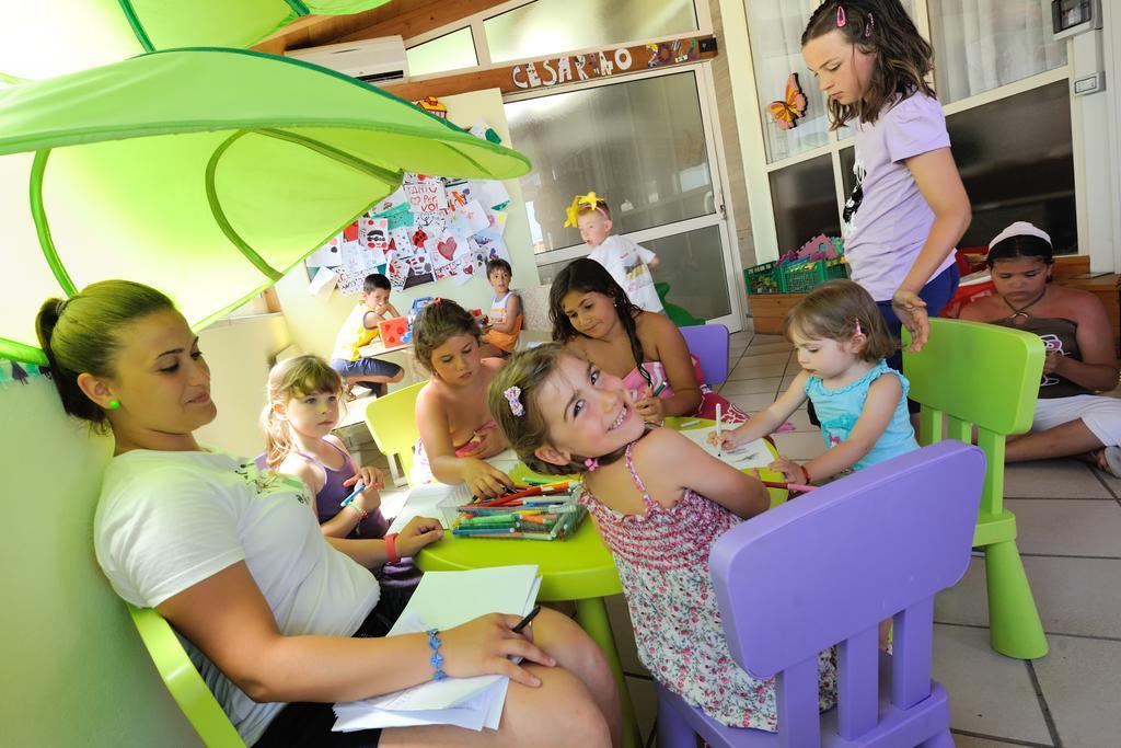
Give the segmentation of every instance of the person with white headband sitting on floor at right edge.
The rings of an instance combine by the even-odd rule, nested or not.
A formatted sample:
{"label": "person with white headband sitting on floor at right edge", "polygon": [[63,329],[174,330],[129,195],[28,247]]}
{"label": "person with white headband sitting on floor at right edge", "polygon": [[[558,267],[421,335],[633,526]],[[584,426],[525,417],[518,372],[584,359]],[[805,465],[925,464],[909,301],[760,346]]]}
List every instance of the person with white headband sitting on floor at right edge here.
{"label": "person with white headband sitting on floor at right edge", "polygon": [[1118,359],[1105,307],[1093,294],[1049,283],[1050,237],[1018,221],[989,244],[997,293],[962,310],[962,320],[1039,335],[1047,350],[1031,433],[1011,438],[1008,462],[1077,456],[1121,477]]}

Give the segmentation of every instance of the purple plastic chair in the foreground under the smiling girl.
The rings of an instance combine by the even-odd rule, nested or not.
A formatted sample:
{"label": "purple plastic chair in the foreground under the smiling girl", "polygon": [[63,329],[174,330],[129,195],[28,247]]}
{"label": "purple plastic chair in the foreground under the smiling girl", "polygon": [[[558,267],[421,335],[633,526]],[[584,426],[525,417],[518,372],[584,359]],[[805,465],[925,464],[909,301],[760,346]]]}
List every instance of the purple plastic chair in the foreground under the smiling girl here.
{"label": "purple plastic chair in the foreground under the smiling girl", "polygon": [[[658,685],[658,745],[952,748],[930,680],[934,595],[965,573],[984,453],[941,442],[732,528],[712,578],[732,657],[776,677],[779,732],[730,728]],[[895,615],[895,656],[877,647]],[[837,708],[818,714],[817,653],[837,647]]]}

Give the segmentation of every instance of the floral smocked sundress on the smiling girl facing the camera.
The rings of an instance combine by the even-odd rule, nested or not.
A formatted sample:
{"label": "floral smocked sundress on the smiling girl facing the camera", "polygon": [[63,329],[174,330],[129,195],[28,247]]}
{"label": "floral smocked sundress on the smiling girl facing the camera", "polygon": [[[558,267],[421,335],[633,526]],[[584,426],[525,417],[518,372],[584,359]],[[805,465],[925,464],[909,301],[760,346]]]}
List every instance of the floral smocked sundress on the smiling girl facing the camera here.
{"label": "floral smocked sundress on the smiling girl facing the camera", "polygon": [[[732,727],[775,732],[775,682],[751,677],[728,650],[708,552],[741,519],[687,490],[666,509],[650,498],[627,447],[627,469],[642,493],[646,511],[622,515],[585,488],[580,497],[595,517],[619,569],[639,659],[667,689]],[[766,601],[761,601],[766,604]],[[818,658],[822,710],[836,703],[832,650]]]}

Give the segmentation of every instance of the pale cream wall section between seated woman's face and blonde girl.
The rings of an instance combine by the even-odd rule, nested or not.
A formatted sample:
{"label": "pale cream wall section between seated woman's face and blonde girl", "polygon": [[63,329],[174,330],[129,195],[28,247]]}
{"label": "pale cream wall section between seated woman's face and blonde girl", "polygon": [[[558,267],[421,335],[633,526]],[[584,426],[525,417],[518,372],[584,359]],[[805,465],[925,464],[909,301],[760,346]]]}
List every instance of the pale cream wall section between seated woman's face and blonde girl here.
{"label": "pale cream wall section between seated woman's face and blonde girl", "polygon": [[269,361],[288,344],[288,325],[280,314],[230,317],[198,334],[217,405],[217,418],[195,432],[201,442],[243,456],[265,451],[257,421],[265,407]]}

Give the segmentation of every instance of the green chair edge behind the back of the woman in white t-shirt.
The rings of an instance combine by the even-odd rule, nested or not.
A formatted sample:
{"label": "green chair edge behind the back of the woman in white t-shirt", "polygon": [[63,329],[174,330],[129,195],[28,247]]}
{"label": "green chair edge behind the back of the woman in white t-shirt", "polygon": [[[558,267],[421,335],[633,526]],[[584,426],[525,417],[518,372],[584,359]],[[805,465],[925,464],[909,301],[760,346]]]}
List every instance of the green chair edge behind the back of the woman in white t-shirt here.
{"label": "green chair edge behind the back of the woman in white t-shirt", "polygon": [[179,637],[164,617],[152,608],[124,604],[164,685],[172,692],[175,703],[202,741],[209,748],[245,748],[241,736],[206,687],[203,676],[179,643]]}

